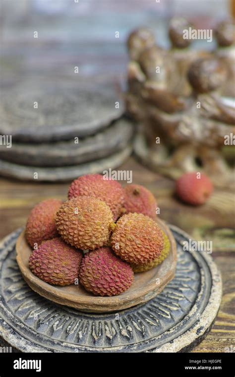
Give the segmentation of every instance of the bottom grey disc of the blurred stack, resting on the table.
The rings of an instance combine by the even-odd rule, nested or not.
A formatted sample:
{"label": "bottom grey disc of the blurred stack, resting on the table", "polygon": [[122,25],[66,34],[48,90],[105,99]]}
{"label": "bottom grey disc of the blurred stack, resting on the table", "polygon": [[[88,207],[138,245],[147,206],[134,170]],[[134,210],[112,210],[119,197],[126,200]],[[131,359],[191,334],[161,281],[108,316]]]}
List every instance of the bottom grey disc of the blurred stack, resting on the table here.
{"label": "bottom grey disc of the blurred stack, resting on the table", "polygon": [[123,150],[105,158],[95,159],[94,161],[79,165],[53,168],[24,166],[0,160],[0,174],[23,181],[71,181],[85,174],[102,173],[104,170],[117,168],[117,166],[120,166],[129,157],[131,152],[132,146],[128,144]]}

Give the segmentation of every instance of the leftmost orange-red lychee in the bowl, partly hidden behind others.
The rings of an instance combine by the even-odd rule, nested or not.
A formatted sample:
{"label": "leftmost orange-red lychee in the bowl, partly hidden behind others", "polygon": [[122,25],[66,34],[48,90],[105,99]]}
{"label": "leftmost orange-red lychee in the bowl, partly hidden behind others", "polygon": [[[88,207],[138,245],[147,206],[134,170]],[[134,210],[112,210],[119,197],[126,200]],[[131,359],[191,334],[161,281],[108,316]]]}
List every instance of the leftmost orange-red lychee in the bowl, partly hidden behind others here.
{"label": "leftmost orange-red lychee in the bowl, partly hidden behind others", "polygon": [[35,244],[39,246],[43,241],[59,236],[55,217],[61,204],[61,200],[47,199],[37,204],[30,212],[25,237],[32,248]]}

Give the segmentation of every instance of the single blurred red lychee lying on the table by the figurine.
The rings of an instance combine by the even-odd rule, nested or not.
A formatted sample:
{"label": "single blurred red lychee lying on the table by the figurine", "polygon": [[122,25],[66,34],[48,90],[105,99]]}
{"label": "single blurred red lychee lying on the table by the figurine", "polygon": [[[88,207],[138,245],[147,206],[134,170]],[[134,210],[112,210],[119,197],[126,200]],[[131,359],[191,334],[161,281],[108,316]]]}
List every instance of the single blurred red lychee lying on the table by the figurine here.
{"label": "single blurred red lychee lying on the table by the figurine", "polygon": [[185,203],[192,205],[204,204],[212,194],[214,188],[210,179],[205,174],[183,174],[176,181],[176,195]]}

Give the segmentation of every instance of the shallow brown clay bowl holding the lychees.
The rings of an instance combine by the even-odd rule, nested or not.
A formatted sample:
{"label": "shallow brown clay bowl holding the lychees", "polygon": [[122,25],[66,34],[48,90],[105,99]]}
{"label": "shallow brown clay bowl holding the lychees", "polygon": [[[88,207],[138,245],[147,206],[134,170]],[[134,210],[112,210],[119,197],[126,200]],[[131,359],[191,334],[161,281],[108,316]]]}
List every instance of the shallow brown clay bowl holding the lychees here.
{"label": "shallow brown clay bowl holding the lychees", "polygon": [[50,285],[39,279],[29,269],[28,260],[32,250],[26,242],[24,231],[19,235],[16,243],[16,260],[30,288],[46,299],[60,305],[79,309],[83,312],[117,312],[153,299],[175,276],[175,239],[168,226],[162,220],[157,219],[157,224],[167,234],[171,243],[171,249],[167,258],[160,265],[147,272],[136,273],[131,287],[119,296],[94,296],[81,285],[59,287]]}

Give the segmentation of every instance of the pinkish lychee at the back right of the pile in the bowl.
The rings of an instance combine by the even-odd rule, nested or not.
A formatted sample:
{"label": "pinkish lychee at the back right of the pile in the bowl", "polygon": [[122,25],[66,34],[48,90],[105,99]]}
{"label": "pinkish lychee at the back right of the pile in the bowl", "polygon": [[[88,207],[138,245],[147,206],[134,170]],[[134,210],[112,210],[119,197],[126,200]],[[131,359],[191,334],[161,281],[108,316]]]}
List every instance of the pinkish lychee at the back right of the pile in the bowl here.
{"label": "pinkish lychee at the back right of the pile in the bowl", "polygon": [[124,188],[124,213],[142,213],[156,218],[157,202],[152,192],[141,185],[127,185]]}

